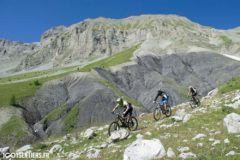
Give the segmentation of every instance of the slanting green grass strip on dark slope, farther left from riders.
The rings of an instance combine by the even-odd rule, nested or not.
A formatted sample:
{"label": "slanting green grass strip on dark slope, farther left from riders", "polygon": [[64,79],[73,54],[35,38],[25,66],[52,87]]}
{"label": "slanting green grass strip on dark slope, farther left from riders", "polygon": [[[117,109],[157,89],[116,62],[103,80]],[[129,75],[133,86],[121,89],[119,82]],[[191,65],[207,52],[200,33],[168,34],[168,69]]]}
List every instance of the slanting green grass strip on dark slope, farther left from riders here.
{"label": "slanting green grass strip on dark slope, farther left from riders", "polygon": [[63,104],[62,106],[59,106],[49,112],[42,120],[41,122],[49,122],[59,119],[67,110],[67,105]]}

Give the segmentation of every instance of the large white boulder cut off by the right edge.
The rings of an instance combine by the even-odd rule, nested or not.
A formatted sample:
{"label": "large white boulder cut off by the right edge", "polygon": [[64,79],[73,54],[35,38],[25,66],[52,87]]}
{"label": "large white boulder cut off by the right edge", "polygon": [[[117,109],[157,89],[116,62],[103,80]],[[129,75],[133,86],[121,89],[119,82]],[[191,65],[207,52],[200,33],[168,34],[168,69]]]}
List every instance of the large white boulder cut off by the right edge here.
{"label": "large white boulder cut off by the right edge", "polygon": [[237,113],[228,114],[223,120],[228,133],[240,133],[240,115]]}

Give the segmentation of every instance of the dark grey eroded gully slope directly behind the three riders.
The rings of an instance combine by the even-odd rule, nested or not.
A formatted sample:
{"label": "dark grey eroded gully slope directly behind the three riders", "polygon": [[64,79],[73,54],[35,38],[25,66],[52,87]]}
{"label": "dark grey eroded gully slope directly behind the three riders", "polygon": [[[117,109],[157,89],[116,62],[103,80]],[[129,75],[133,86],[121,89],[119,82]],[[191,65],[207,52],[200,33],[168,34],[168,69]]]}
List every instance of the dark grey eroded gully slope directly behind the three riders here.
{"label": "dark grey eroded gully slope directly behind the three riders", "polygon": [[215,53],[142,56],[50,81],[20,105],[35,138],[46,138],[109,121],[114,100],[122,95],[139,102],[137,113],[148,112],[159,88],[169,93],[173,106],[188,99],[188,85],[206,95],[239,74],[239,62]]}

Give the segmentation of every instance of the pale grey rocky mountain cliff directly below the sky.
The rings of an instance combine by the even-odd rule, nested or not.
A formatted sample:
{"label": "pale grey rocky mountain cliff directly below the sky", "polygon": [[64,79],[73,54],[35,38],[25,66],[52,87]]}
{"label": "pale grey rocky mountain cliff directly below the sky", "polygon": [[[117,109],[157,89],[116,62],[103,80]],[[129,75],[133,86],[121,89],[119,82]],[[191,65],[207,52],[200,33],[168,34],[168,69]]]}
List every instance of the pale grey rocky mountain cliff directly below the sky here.
{"label": "pale grey rocky mountain cliff directly below the sky", "polygon": [[[1,64],[6,65],[11,59],[15,65],[1,72],[79,64],[140,42],[143,54],[212,51],[240,57],[238,29],[216,30],[175,15],[143,15],[118,20],[87,19],[69,27],[55,27],[46,31],[36,44],[6,45],[2,40]],[[20,58],[14,58],[19,54]]]}

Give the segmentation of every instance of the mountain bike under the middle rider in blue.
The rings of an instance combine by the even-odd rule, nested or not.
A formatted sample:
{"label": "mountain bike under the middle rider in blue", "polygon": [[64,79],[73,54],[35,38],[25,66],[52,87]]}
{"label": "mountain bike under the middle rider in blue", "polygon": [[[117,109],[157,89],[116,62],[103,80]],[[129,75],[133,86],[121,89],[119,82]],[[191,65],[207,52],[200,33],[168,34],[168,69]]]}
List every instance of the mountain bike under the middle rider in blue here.
{"label": "mountain bike under the middle rider in blue", "polygon": [[153,110],[153,118],[158,121],[162,114],[165,114],[166,117],[170,117],[172,115],[172,109],[169,104],[166,106],[166,111],[164,109],[164,106],[160,104],[160,102],[155,102],[154,103],[154,110]]}

